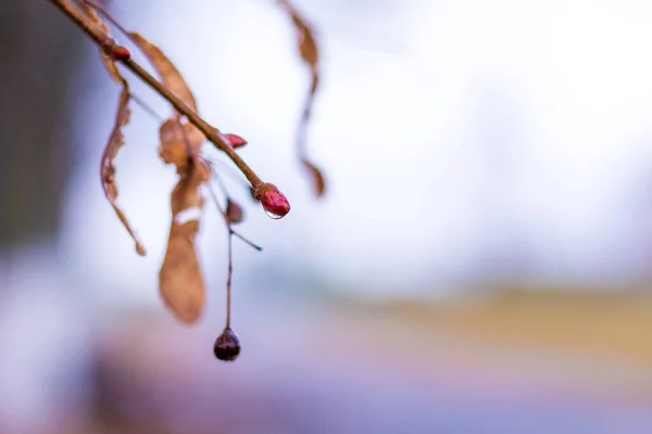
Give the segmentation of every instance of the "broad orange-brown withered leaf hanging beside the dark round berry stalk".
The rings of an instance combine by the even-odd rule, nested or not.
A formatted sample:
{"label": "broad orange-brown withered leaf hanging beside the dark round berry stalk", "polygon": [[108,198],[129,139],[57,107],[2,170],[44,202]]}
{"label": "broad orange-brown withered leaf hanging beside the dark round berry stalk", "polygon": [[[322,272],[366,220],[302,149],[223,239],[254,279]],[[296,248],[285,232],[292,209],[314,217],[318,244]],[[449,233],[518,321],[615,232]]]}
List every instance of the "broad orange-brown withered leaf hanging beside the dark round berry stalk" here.
{"label": "broad orange-brown withered leaf hanging beside the dark round berry stalk", "polygon": [[172,192],[172,227],[165,259],[159,273],[161,297],[179,321],[192,324],[205,304],[204,281],[195,239],[199,231],[203,197],[200,187],[208,182],[210,169],[203,162],[193,164]]}

